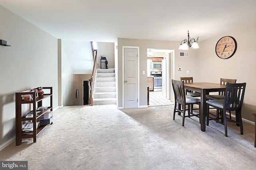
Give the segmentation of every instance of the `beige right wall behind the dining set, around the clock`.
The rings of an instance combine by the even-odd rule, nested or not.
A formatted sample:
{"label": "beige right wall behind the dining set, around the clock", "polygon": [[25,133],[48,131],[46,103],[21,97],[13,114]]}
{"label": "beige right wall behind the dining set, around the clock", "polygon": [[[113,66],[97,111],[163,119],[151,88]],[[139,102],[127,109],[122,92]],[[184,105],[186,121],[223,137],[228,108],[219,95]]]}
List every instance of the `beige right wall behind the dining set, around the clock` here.
{"label": "beige right wall behind the dining set, around the clock", "polygon": [[[237,83],[246,82],[242,117],[254,121],[256,113],[256,25],[230,31],[218,37],[199,42],[198,81],[219,83],[220,78],[237,79]],[[224,36],[236,39],[236,53],[229,59],[220,59],[215,53],[217,41]]]}

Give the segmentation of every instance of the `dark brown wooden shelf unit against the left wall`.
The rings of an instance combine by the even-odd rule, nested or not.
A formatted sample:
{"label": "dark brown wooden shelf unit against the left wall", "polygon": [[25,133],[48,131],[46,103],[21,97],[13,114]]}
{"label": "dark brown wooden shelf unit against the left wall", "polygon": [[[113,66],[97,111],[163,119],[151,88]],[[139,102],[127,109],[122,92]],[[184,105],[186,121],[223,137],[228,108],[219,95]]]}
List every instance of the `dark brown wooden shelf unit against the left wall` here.
{"label": "dark brown wooden shelf unit against the left wall", "polygon": [[[34,89],[31,89],[34,90]],[[33,142],[36,142],[36,135],[40,133],[47,125],[38,126],[36,128],[36,120],[40,119],[40,116],[42,116],[46,111],[52,111],[52,87],[43,87],[43,90],[49,91],[50,93],[44,93],[43,96],[38,96],[36,98],[36,92],[31,90],[26,90],[23,92],[17,92],[16,93],[16,146],[21,145],[23,138],[33,138]],[[32,100],[24,101],[22,100],[23,95],[31,95]],[[47,109],[42,110],[39,114],[36,113],[36,104],[37,107],[42,106],[42,101],[46,98],[50,98],[50,106]],[[22,114],[22,104],[32,104],[32,110],[33,111],[33,117],[26,118],[25,114]],[[28,112],[30,112],[28,111]],[[27,113],[28,113],[27,112]],[[31,132],[23,132],[22,131],[22,124],[23,121],[32,121],[33,122],[33,131]]]}

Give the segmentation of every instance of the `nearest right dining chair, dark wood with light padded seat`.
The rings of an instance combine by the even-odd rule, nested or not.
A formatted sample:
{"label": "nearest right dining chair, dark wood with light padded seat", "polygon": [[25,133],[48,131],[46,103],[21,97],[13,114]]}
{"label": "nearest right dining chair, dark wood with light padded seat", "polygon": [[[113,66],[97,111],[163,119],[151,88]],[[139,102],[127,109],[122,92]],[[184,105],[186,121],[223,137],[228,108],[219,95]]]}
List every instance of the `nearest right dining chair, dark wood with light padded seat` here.
{"label": "nearest right dining chair, dark wood with light padded seat", "polygon": [[[226,92],[224,94],[224,100],[207,100],[206,101],[206,125],[209,125],[209,120],[215,120],[221,123],[225,127],[225,136],[228,137],[227,120],[236,122],[237,126],[240,126],[241,135],[244,134],[243,122],[242,122],[242,106],[244,101],[246,83],[227,83]],[[218,117],[210,113],[210,106],[220,110],[221,116],[224,121],[219,121]],[[236,111],[236,120],[232,120],[226,117],[226,111]],[[211,115],[211,116],[210,116]]]}

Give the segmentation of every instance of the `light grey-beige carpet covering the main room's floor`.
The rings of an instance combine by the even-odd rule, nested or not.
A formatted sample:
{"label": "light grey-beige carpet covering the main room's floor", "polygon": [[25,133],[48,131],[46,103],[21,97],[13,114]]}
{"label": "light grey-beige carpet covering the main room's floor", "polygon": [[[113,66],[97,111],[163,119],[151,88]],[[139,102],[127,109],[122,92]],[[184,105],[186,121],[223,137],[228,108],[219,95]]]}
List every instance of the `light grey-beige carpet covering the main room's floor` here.
{"label": "light grey-beige carpet covering the main room's floor", "polygon": [[27,160],[29,170],[254,170],[254,126],[197,117],[172,119],[173,105],[116,109],[115,105],[69,106],[37,136],[0,151],[0,160]]}

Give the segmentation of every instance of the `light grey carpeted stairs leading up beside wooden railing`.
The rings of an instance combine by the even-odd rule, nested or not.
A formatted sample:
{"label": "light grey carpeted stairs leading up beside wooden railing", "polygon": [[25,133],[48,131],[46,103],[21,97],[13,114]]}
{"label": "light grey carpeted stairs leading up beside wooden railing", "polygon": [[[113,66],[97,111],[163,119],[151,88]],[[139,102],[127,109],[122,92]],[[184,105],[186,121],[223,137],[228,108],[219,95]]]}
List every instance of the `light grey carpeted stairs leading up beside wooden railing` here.
{"label": "light grey carpeted stairs leading up beside wooden railing", "polygon": [[97,69],[93,105],[116,104],[115,69]]}

